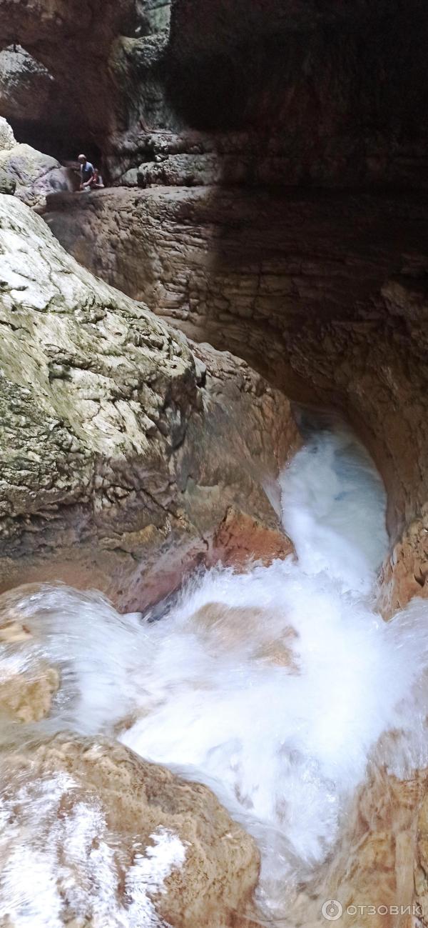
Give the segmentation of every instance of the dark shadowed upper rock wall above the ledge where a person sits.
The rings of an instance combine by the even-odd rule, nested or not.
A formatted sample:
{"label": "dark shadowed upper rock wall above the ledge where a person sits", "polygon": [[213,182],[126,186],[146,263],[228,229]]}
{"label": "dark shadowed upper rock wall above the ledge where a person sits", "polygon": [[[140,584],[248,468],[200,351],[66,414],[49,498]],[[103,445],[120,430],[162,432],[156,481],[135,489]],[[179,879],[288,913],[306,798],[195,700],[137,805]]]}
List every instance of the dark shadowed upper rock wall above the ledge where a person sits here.
{"label": "dark shadowed upper rock wall above the ledge where a person sits", "polygon": [[226,132],[240,134],[237,183],[427,186],[421,0],[118,0],[102,15],[95,0],[2,0],[1,11],[1,111],[35,148],[69,157],[57,148],[93,143],[120,177],[148,161],[153,132],[196,130],[215,152]]}

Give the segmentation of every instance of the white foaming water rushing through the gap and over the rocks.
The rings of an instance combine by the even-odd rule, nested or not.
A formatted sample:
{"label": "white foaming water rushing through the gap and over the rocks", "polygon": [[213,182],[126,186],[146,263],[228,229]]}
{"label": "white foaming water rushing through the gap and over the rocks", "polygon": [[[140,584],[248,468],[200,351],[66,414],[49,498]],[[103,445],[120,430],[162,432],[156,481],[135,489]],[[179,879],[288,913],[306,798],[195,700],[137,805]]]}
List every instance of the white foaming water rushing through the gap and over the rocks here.
{"label": "white foaming water rushing through the gap and over the rocks", "polygon": [[267,917],[334,845],[383,732],[401,733],[397,756],[378,757],[398,776],[427,760],[426,606],[387,624],[374,612],[387,536],[371,460],[345,432],[320,432],[281,496],[297,559],[198,574],[157,621],[67,587],[24,591],[15,608],[32,637],[2,657],[3,677],[41,659],[60,669],[41,729],[114,731],[207,783],[258,841]]}

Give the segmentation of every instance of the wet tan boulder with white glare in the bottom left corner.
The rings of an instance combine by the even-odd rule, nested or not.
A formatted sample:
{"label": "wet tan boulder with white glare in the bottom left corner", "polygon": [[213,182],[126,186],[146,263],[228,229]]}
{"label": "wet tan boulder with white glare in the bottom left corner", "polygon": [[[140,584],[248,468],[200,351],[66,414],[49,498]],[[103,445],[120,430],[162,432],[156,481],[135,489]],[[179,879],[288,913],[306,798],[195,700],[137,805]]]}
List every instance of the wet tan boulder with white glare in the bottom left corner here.
{"label": "wet tan boulder with white glare in the bottom left corner", "polygon": [[41,659],[44,592],[0,597],[0,920],[244,928],[258,850],[214,794],[117,741],[57,733],[86,694],[67,654]]}

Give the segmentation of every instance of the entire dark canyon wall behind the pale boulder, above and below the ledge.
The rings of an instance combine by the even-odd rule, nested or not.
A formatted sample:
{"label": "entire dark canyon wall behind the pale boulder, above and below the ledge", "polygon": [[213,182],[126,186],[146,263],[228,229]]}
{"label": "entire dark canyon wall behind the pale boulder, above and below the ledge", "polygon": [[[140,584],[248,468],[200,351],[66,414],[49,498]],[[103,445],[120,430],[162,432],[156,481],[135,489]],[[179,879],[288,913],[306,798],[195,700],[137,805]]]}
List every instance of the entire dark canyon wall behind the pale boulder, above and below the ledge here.
{"label": "entire dark canyon wall behind the pale boulder, above and below the ledge", "polygon": [[384,612],[424,595],[422,0],[4,6],[0,107],[19,141],[89,147],[113,185],[52,199],[59,240],[344,415],[388,489]]}

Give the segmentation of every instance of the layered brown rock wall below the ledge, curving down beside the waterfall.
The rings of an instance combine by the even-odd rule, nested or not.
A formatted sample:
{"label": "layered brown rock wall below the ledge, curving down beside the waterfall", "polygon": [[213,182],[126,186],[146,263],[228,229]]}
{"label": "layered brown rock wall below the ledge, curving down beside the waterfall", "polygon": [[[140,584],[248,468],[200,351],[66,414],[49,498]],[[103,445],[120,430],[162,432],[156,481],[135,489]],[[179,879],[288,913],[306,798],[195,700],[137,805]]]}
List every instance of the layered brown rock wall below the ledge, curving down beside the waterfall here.
{"label": "layered brown rock wall below the ledge, curving down beside the waterfall", "polygon": [[58,197],[46,215],[109,283],[352,422],[388,491],[387,615],[428,590],[427,215],[410,195],[217,187]]}

